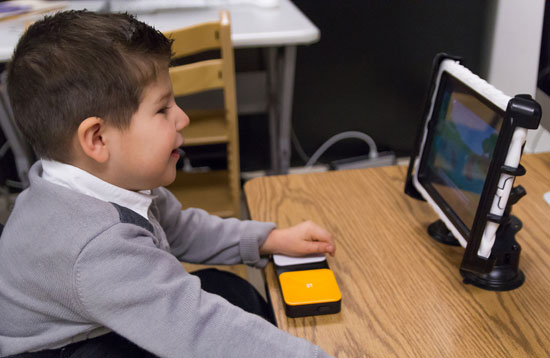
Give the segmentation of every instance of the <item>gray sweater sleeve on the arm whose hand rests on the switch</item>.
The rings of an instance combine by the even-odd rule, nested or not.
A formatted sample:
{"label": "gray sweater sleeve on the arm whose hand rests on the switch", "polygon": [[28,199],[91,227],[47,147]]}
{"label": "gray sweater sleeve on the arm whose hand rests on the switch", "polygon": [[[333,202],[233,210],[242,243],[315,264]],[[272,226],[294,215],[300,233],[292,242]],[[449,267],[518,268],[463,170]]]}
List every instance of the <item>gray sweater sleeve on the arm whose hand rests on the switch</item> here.
{"label": "gray sweater sleeve on the arm whose hand rests on the switch", "polygon": [[181,204],[166,189],[155,192],[157,216],[171,252],[178,259],[202,264],[245,263],[263,267],[259,248],[275,228],[273,223],[221,219],[201,209],[181,210]]}

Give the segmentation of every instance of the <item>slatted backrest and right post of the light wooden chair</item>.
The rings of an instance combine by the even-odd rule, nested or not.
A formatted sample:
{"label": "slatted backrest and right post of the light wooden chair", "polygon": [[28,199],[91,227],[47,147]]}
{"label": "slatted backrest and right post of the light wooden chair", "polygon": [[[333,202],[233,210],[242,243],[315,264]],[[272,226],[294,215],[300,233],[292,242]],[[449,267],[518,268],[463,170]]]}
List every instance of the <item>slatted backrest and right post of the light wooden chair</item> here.
{"label": "slatted backrest and right post of the light wooden chair", "polygon": [[[231,41],[231,21],[229,11],[220,11],[220,19],[215,22],[206,22],[195,26],[165,32],[164,35],[174,40],[172,51],[173,59],[196,55],[205,51],[219,50],[220,58],[199,60],[184,65],[176,65],[170,68],[170,78],[174,89],[174,95],[187,96],[209,90],[220,89],[223,91],[225,117],[225,129],[220,138],[216,139],[217,129],[214,126],[208,128],[208,132],[201,132],[203,138],[210,138],[211,143],[227,143],[227,166],[231,195],[234,198],[234,212],[240,212],[240,163],[238,145],[238,121],[237,100],[235,89],[235,65],[233,59],[233,44]],[[200,113],[200,112],[199,112]],[[196,117],[200,120],[201,115]],[[194,117],[190,115],[191,125],[186,132],[186,143],[201,144],[195,138],[188,138],[186,133],[191,133]],[[195,133],[195,132],[192,132]],[[223,138],[227,136],[226,138]],[[189,140],[188,140],[189,139]]]}

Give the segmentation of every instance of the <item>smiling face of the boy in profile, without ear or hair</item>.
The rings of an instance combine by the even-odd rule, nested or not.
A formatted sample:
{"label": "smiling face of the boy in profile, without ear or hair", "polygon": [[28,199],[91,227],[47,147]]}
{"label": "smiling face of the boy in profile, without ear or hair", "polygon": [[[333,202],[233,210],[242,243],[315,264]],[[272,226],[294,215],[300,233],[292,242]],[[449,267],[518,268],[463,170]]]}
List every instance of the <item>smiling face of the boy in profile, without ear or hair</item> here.
{"label": "smiling face of the boy in profile, without ear or hair", "polygon": [[165,186],[176,178],[180,131],[189,117],[176,105],[168,71],[145,88],[130,127],[118,130],[110,146],[109,171],[128,190]]}

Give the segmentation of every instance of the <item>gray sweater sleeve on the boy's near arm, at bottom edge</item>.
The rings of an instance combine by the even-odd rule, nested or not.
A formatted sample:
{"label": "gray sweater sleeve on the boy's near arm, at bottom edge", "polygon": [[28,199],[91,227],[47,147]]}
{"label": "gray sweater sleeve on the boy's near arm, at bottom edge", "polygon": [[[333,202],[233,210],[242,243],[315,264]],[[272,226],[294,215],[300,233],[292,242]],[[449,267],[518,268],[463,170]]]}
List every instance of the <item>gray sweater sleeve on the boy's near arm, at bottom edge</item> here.
{"label": "gray sweater sleeve on the boy's near arm, at bottom edge", "polygon": [[200,288],[145,230],[118,224],[91,240],[74,265],[88,319],[161,357],[326,357],[321,348]]}

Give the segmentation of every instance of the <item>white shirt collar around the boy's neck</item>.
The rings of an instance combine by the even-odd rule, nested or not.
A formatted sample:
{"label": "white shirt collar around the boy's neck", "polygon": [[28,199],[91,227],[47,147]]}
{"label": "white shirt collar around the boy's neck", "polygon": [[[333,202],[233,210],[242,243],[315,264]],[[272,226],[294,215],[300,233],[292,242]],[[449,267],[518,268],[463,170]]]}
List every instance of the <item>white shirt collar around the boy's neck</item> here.
{"label": "white shirt collar around the boy's neck", "polygon": [[151,195],[151,190],[126,190],[70,164],[45,159],[41,159],[41,162],[43,179],[96,199],[124,206],[149,220],[147,212],[155,198]]}

